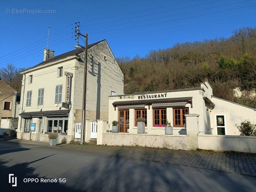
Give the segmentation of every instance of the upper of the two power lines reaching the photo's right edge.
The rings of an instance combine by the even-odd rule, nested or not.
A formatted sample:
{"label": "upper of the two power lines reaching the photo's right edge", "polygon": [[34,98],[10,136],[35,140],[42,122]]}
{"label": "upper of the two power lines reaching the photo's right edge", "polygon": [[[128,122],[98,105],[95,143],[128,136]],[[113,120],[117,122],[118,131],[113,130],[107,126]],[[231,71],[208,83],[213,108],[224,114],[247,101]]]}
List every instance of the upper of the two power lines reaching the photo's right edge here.
{"label": "upper of the two power lines reaching the photo's right edge", "polygon": [[[256,5],[256,4],[255,4],[255,5]],[[162,21],[162,22],[151,23],[151,24],[146,24],[146,25],[140,25],[140,26],[133,26],[133,27],[127,27],[127,28],[121,28],[121,29],[112,29],[112,30],[107,30],[107,31],[98,31],[98,32],[90,33],[90,34],[103,33],[103,32],[109,32],[109,31],[117,31],[117,30],[130,29],[130,28],[137,28],[137,27],[144,27],[144,26],[149,26],[149,25],[156,25],[156,24],[160,24],[160,23],[166,23],[166,22],[171,22],[171,21],[177,21],[177,20],[189,19],[189,18],[194,18],[194,17],[200,17],[200,16],[204,16],[204,15],[211,15],[211,14],[220,13],[220,12],[232,11],[232,10],[237,10],[237,9],[246,8],[246,7],[252,7],[252,6],[255,6],[255,5],[250,5],[250,6],[245,6],[245,7],[239,7],[239,8],[235,8],[235,9],[229,9],[229,10],[219,11],[219,12],[213,12],[213,13],[206,13],[206,14],[202,14],[202,15],[196,15],[196,16],[191,16],[191,17],[185,17],[185,18],[181,18],[181,19],[175,19],[175,20]]]}

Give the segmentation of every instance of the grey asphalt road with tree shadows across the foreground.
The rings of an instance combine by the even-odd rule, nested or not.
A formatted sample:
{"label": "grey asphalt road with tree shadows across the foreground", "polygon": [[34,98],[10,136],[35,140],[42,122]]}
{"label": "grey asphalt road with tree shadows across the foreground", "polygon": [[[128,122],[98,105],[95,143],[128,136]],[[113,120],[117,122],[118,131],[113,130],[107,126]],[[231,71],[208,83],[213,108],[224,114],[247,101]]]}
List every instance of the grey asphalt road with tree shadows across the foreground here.
{"label": "grey asphalt road with tree shadows across the foreground", "polygon": [[[17,177],[17,187],[9,183],[10,173]],[[28,178],[39,181],[24,182]],[[52,183],[55,178],[57,182]],[[0,180],[1,191],[251,192],[256,189],[254,176],[10,141],[0,141]]]}

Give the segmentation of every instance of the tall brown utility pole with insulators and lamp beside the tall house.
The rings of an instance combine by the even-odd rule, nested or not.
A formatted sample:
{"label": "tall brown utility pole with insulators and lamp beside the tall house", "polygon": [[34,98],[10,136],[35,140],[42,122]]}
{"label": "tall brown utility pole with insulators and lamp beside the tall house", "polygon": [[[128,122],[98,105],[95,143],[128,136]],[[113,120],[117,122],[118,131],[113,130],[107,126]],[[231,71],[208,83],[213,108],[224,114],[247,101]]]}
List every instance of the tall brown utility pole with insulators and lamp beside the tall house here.
{"label": "tall brown utility pole with insulators and lamp beside the tall house", "polygon": [[[78,24],[77,24],[78,23]],[[86,82],[87,82],[87,50],[88,50],[88,34],[82,35],[80,33],[80,22],[76,23],[76,49],[83,49],[84,50],[84,86],[83,86],[83,103],[82,103],[82,126],[81,126],[81,139],[80,144],[84,143],[84,133],[85,133],[85,112],[86,112]],[[79,45],[79,36],[83,36],[85,38],[85,45]]]}

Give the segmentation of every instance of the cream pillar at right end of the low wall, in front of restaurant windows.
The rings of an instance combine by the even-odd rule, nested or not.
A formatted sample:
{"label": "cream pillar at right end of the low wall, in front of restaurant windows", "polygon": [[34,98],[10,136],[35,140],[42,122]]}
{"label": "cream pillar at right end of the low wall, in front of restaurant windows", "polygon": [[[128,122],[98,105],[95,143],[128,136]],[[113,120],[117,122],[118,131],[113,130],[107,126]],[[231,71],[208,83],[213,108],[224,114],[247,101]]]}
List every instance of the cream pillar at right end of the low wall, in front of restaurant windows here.
{"label": "cream pillar at right end of the low wall, in front of restaurant windows", "polygon": [[199,115],[198,114],[187,114],[186,116],[186,131],[187,131],[187,148],[197,149],[198,148],[198,137],[199,134]]}

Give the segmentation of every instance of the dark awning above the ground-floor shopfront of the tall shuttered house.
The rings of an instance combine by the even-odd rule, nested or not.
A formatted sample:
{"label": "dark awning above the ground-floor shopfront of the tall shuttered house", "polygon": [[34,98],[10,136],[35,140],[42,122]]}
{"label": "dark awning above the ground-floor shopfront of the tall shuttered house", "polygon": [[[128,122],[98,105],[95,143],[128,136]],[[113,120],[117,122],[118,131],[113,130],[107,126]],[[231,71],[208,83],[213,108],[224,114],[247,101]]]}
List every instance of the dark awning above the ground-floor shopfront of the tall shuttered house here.
{"label": "dark awning above the ground-floor shopfront of the tall shuttered house", "polygon": [[33,111],[33,112],[23,112],[20,114],[21,117],[41,117],[41,116],[67,116],[67,110],[54,110],[54,111]]}

